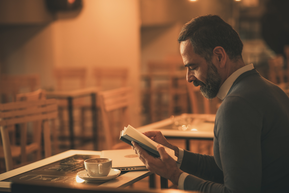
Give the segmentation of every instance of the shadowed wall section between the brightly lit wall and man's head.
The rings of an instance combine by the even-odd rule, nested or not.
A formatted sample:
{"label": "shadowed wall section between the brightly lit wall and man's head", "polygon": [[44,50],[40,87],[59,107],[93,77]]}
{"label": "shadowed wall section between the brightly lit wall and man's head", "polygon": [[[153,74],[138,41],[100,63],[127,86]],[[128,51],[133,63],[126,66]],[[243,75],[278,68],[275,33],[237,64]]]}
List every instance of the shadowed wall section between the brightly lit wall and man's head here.
{"label": "shadowed wall section between the brightly lit wall and man's head", "polygon": [[[142,70],[150,60],[181,57],[177,38],[181,26],[203,14],[218,14],[231,22],[232,1],[141,0]],[[158,11],[159,10],[159,11]]]}

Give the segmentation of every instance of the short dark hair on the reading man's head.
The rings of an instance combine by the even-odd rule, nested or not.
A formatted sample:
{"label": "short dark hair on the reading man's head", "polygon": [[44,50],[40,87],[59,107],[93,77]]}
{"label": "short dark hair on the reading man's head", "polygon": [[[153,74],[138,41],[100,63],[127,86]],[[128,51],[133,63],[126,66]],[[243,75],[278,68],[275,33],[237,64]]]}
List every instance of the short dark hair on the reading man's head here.
{"label": "short dark hair on the reading man's head", "polygon": [[194,52],[210,61],[216,46],[224,48],[231,60],[242,58],[243,43],[237,31],[218,15],[198,16],[186,23],[178,42],[190,38]]}

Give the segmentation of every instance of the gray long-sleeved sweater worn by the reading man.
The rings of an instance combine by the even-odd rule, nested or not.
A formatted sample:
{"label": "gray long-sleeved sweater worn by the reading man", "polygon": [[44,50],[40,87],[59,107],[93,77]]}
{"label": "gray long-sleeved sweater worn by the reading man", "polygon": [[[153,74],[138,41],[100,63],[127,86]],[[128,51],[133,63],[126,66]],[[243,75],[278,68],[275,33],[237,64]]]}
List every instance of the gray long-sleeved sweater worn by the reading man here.
{"label": "gray long-sleeved sweater worn by the reading man", "polygon": [[289,192],[289,98],[253,69],[219,107],[214,156],[184,150],[185,190]]}

